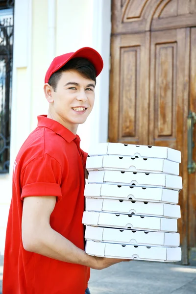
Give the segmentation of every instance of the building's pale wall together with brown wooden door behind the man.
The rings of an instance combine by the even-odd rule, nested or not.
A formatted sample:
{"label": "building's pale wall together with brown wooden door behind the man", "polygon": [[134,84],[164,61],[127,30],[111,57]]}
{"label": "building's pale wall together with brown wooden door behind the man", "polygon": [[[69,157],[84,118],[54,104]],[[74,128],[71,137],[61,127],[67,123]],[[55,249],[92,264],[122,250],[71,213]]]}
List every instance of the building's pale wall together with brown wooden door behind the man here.
{"label": "building's pale wall together with brown wooden door behind the man", "polygon": [[37,115],[47,113],[45,73],[54,56],[89,46],[103,57],[104,69],[94,110],[78,128],[81,147],[88,151],[93,143],[109,141],[181,151],[178,228],[187,264],[196,248],[196,0],[0,2],[14,2],[10,165],[0,173],[0,254],[15,156]]}

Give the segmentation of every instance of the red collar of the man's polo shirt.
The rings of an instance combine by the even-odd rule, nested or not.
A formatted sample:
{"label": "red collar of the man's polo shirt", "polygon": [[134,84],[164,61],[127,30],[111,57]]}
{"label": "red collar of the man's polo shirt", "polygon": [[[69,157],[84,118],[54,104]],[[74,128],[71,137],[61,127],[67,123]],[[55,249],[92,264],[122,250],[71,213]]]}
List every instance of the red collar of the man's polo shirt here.
{"label": "red collar of the man's polo shirt", "polygon": [[47,115],[39,115],[38,119],[38,126],[41,127],[48,127],[50,130],[54,131],[56,134],[63,137],[67,142],[72,142],[74,139],[80,141],[78,135],[73,134],[69,129],[63,126],[61,123],[57,121],[51,120],[47,117]]}

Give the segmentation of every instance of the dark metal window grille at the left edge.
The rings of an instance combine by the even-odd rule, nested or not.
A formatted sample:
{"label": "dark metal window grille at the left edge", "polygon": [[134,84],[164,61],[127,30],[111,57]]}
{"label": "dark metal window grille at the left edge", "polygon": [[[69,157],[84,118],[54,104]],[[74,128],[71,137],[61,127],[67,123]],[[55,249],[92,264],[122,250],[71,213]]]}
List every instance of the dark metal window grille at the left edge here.
{"label": "dark metal window grille at the left edge", "polygon": [[9,172],[14,0],[0,0],[0,173]]}

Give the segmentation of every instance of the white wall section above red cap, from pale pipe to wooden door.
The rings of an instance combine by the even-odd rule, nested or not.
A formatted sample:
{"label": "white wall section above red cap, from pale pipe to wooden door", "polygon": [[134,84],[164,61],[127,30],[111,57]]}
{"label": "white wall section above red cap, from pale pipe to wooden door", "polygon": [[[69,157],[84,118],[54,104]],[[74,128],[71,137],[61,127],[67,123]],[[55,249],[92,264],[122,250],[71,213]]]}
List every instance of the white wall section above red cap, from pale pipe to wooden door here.
{"label": "white wall section above red cap, from pale pipe to wooden door", "polygon": [[98,50],[104,62],[94,109],[77,132],[81,148],[88,151],[92,143],[107,142],[108,137],[111,0],[58,0],[56,15],[56,55],[89,46]]}

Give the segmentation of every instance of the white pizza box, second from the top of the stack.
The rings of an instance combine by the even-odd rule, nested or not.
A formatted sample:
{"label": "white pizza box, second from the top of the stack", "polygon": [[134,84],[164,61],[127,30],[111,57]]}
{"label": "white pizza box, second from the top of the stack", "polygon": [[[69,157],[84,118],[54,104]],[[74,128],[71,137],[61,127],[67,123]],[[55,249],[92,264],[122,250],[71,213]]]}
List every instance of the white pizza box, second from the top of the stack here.
{"label": "white pizza box, second from the top of the stack", "polygon": [[179,175],[179,163],[167,159],[135,158],[130,156],[90,156],[87,157],[86,169],[115,170],[129,172],[152,172]]}

